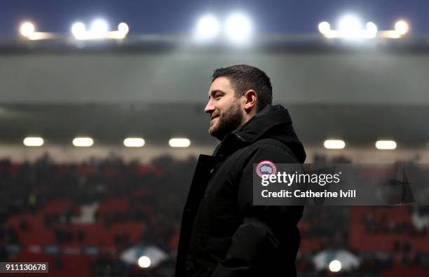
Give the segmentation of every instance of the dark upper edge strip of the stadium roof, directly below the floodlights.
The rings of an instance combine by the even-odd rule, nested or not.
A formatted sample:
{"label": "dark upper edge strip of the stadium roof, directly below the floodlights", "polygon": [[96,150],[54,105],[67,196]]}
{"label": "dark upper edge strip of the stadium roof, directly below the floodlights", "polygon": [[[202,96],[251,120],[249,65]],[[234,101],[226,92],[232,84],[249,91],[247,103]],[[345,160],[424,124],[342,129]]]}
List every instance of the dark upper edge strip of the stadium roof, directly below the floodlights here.
{"label": "dark upper edge strip of the stadium roof, directly below the floodlights", "polygon": [[234,46],[226,39],[212,43],[196,43],[190,35],[141,34],[128,35],[123,40],[93,39],[79,41],[69,35],[57,35],[53,39],[28,40],[25,38],[0,38],[0,53],[111,53],[193,50],[201,52],[263,50],[280,52],[338,52],[368,49],[383,51],[428,51],[428,35],[407,35],[400,39],[326,39],[321,34],[259,34],[250,45]]}

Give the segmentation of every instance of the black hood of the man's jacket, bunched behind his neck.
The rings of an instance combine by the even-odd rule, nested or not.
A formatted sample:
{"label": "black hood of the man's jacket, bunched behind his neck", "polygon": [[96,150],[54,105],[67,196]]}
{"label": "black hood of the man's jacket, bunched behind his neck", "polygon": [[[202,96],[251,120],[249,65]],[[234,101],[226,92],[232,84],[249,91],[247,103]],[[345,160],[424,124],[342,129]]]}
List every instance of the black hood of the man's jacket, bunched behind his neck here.
{"label": "black hood of the man's jacket, bunched behind his neck", "polygon": [[304,146],[294,131],[289,112],[281,105],[266,106],[250,121],[226,135],[214,154],[218,156],[222,152],[228,151],[231,148],[228,147],[231,140],[240,140],[240,144],[245,146],[263,138],[279,140],[293,152],[300,163],[304,163],[306,159]]}

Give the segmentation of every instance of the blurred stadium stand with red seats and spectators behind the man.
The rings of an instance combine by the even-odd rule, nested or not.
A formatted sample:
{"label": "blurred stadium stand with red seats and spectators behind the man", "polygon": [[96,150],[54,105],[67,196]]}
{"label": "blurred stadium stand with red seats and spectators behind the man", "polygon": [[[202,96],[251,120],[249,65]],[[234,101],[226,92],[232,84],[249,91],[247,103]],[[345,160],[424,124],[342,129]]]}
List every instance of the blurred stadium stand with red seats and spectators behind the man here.
{"label": "blurred stadium stand with red seats and spectators behind the man", "polygon": [[[0,253],[8,261],[50,262],[49,276],[171,276],[195,163],[169,156],[150,165],[121,158],[79,164],[57,164],[48,156],[22,164],[4,159]],[[329,249],[360,258],[357,269],[339,276],[427,276],[428,215],[427,207],[413,206],[306,207],[299,272],[311,274],[311,257]],[[169,259],[151,270],[126,264],[121,252],[133,245],[156,245]]]}

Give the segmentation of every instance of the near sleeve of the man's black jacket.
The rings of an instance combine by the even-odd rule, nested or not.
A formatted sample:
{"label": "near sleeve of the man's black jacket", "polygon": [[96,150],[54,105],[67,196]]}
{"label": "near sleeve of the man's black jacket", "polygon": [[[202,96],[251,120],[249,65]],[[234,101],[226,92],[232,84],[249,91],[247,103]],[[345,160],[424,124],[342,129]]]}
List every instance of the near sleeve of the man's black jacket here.
{"label": "near sleeve of the man's black jacket", "polygon": [[[289,151],[274,145],[264,145],[253,151],[238,184],[238,207],[243,224],[233,234],[226,259],[217,265],[212,277],[252,276],[252,268],[261,259],[272,257],[277,250],[278,234],[282,232],[282,227],[289,224],[296,226],[301,218],[302,207],[253,205],[253,164],[263,160],[299,163]],[[299,236],[296,248],[298,246]]]}

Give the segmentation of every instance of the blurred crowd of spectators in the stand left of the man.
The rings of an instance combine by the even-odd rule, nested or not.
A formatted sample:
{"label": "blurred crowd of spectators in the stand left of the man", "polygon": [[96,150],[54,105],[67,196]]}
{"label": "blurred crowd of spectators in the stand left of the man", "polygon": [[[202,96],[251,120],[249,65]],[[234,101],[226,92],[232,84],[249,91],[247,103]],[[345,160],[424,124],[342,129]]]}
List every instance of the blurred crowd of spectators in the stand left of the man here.
{"label": "blurred crowd of spectators in the stand left of the man", "polygon": [[[114,235],[116,253],[135,244],[156,245],[174,259],[182,208],[195,165],[194,157],[176,161],[169,156],[158,157],[150,165],[125,163],[114,156],[81,164],[56,164],[48,156],[22,164],[4,159],[0,161],[0,244],[22,245],[20,234],[32,234],[35,228],[26,219],[20,219],[18,226],[7,224],[8,219],[43,212],[43,227],[53,231],[57,245],[83,245],[86,232],[70,228],[74,217],[79,216],[79,207],[123,197],[128,202],[126,210],[97,211],[93,222],[103,224],[105,229],[121,222],[144,224],[138,241],[130,241],[126,232]],[[43,210],[55,199],[67,199],[73,205],[58,213]],[[0,250],[2,260],[7,259],[5,249]],[[118,255],[111,259],[118,259]],[[92,269],[99,272],[97,265],[107,260],[96,258]]]}

